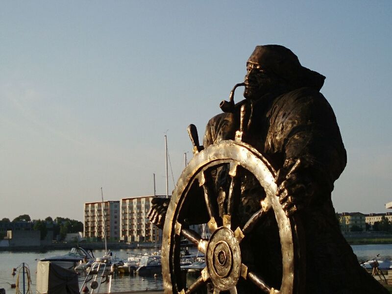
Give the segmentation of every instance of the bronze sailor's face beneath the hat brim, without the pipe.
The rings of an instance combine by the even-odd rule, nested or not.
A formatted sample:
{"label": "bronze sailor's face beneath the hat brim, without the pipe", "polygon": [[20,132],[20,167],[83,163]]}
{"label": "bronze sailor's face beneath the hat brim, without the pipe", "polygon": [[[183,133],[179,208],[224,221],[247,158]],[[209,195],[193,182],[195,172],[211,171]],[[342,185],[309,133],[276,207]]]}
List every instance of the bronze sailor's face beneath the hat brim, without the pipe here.
{"label": "bronze sailor's face beneath the hat brim, without the pipe", "polygon": [[246,63],[245,91],[244,97],[247,99],[258,99],[270,93],[275,86],[273,75],[260,64],[248,61]]}

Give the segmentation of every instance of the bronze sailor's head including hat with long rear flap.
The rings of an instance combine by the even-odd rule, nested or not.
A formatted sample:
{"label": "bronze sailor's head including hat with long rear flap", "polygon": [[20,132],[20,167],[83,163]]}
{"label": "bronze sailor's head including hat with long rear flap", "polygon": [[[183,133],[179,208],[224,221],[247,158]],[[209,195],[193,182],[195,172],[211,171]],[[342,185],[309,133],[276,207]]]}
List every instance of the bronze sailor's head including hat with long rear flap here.
{"label": "bronze sailor's head including hat with long rear flap", "polygon": [[246,69],[244,97],[248,99],[301,87],[319,91],[325,79],[325,76],[301,66],[298,57],[280,45],[256,46]]}

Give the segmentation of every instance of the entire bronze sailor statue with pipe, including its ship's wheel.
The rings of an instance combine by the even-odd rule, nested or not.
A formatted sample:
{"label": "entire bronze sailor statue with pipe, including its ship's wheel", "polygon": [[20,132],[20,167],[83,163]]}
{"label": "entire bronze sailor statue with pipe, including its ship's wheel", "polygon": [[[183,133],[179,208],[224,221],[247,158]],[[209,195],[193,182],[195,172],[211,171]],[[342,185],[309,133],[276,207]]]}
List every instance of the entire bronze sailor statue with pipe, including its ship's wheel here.
{"label": "entire bronze sailor statue with pipe, including its ship's wheel", "polygon": [[[246,63],[245,99],[222,101],[172,200],[154,199],[164,227],[165,293],[381,294],[359,265],[331,200],[346,165],[335,114],[320,93],[325,77],[279,45],[257,46]],[[190,225],[207,223],[210,239]],[[206,255],[192,285],[181,280],[179,240]],[[165,256],[165,254],[167,256]],[[166,259],[166,261],[164,261]]]}

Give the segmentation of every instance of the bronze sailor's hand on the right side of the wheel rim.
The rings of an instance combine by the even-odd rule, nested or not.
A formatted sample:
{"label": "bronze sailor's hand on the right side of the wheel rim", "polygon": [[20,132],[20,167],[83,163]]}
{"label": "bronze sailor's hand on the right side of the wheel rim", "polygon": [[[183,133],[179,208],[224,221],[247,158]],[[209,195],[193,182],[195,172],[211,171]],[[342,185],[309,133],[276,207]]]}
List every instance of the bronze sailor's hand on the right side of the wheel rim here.
{"label": "bronze sailor's hand on the right side of the wheel rim", "polygon": [[277,173],[275,183],[278,186],[276,196],[287,216],[307,207],[315,193],[316,183],[303,169],[300,159],[287,160]]}

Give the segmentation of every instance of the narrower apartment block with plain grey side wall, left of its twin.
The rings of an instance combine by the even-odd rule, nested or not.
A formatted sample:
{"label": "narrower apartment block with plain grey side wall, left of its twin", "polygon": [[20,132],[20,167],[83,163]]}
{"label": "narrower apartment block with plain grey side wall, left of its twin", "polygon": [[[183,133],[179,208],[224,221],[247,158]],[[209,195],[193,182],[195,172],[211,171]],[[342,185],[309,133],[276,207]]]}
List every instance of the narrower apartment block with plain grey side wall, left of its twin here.
{"label": "narrower apartment block with plain grey side wall, left of its twin", "polygon": [[108,241],[120,240],[120,201],[84,203],[84,237],[102,240],[103,229]]}

